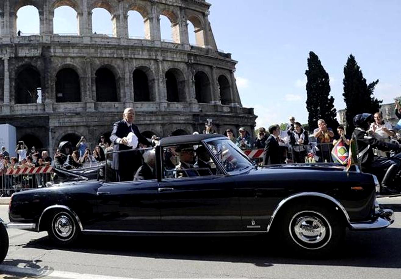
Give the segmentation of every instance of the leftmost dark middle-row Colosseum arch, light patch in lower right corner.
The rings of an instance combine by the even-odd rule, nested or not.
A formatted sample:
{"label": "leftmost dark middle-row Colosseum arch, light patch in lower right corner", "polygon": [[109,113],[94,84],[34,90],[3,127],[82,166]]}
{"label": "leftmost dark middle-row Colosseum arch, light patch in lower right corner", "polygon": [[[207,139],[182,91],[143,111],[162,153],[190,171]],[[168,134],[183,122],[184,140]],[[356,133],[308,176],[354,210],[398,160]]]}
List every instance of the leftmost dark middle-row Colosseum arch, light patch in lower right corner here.
{"label": "leftmost dark middle-row Colosseum arch, light patch in lower right corner", "polygon": [[36,68],[28,66],[19,71],[15,85],[16,104],[42,103],[41,75]]}

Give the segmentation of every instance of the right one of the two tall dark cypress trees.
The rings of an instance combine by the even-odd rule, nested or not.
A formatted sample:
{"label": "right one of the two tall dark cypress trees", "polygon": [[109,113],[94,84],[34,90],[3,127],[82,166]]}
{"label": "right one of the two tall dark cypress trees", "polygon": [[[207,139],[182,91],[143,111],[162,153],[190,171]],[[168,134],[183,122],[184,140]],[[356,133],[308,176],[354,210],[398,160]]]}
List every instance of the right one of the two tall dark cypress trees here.
{"label": "right one of the two tall dark cypress trees", "polygon": [[383,100],[373,97],[373,92],[379,79],[367,84],[362,71],[356,63],[355,57],[351,54],[344,66],[344,102],[346,105],[345,119],[347,123],[347,133],[352,134],[355,126],[352,121],[356,114],[374,114],[380,109]]}

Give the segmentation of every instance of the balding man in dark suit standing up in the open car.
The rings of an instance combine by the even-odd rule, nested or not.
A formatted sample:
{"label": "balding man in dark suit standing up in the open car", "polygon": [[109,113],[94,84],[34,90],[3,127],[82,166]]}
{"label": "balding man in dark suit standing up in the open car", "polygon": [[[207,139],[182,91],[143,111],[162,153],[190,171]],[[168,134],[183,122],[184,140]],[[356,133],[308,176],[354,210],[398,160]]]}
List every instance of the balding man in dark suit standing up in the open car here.
{"label": "balding man in dark suit standing up in the open car", "polygon": [[[138,143],[150,146],[151,143],[139,132],[136,125],[133,124],[135,119],[135,111],[133,108],[126,108],[123,113],[123,119],[117,121],[113,125],[110,141],[114,143],[114,151],[123,151],[136,149]],[[132,132],[133,137],[137,137],[137,146],[130,146],[128,134]],[[142,165],[142,155],[139,151],[130,151],[123,153],[113,153],[112,168],[117,171],[118,181],[132,181],[134,173]]]}

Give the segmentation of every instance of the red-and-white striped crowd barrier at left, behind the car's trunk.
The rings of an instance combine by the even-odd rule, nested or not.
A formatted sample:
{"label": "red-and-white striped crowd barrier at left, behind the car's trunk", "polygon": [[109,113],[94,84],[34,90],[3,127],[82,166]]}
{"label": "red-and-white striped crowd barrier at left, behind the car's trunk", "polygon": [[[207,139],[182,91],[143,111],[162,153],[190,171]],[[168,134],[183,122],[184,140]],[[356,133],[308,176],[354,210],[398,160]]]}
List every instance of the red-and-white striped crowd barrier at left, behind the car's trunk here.
{"label": "red-and-white striped crowd barrier at left, behind the car's trunk", "polygon": [[0,172],[0,197],[9,197],[14,192],[46,187],[52,181],[53,167],[17,167]]}

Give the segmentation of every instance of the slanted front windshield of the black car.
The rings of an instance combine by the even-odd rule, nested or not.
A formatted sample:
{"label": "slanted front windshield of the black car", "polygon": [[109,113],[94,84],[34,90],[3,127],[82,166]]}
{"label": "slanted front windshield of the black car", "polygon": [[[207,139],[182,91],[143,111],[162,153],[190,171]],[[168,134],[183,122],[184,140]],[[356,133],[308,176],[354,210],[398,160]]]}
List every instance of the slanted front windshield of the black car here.
{"label": "slanted front windshield of the black car", "polygon": [[233,171],[241,171],[253,166],[251,161],[243,155],[241,149],[239,149],[229,139],[208,141],[207,144],[213,153],[215,153],[217,159],[221,162],[225,170],[229,173]]}

